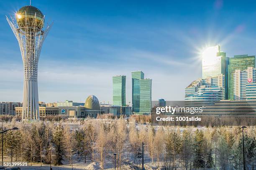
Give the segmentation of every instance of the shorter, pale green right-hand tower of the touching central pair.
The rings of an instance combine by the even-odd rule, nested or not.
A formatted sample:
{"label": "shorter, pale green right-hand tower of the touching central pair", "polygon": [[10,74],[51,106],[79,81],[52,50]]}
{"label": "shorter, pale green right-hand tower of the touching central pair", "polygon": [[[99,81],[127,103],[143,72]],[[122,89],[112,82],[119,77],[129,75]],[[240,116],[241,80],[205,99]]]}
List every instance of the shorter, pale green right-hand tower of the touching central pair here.
{"label": "shorter, pale green right-hand tower of the touching central pair", "polygon": [[140,95],[140,111],[139,114],[151,113],[151,90],[152,90],[152,79],[141,79],[140,80],[141,95]]}

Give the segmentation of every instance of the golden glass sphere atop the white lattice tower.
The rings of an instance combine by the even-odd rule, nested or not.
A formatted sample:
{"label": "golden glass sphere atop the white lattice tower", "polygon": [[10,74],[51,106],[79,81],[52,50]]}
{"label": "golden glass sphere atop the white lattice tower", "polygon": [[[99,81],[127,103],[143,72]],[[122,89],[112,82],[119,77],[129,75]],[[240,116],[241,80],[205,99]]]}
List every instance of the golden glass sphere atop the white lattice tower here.
{"label": "golden glass sphere atop the white lattice tower", "polygon": [[36,32],[44,27],[44,15],[36,7],[25,6],[20,8],[16,13],[16,20],[19,28],[23,31],[32,31],[35,29]]}

